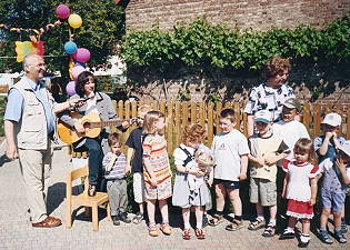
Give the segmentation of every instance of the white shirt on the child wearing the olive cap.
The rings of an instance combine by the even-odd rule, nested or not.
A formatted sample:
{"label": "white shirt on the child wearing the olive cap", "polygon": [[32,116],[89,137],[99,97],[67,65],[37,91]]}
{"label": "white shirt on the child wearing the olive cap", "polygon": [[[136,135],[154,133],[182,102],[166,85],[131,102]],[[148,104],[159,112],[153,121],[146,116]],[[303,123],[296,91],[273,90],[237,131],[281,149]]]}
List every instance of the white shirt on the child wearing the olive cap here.
{"label": "white shirt on the child wearing the olive cap", "polygon": [[[296,142],[300,138],[308,138],[310,139],[310,136],[308,133],[307,128],[304,124],[302,124],[299,121],[278,121],[277,123],[273,123],[272,126],[273,133],[278,134],[284,143],[288,146],[288,148],[291,150],[290,154],[286,158],[289,161],[293,160],[293,149]],[[279,163],[279,166],[281,166]]]}

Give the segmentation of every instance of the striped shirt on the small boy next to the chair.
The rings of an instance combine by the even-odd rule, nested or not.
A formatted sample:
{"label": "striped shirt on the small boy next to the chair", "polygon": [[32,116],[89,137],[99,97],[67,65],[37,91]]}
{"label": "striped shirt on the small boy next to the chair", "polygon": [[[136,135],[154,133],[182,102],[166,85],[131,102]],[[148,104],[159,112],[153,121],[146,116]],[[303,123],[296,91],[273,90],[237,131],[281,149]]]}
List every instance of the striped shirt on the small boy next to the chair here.
{"label": "striped shirt on the small boy next to the chair", "polygon": [[126,166],[127,159],[123,153],[117,156],[117,159],[113,163],[113,167],[110,171],[107,171],[106,168],[112,160],[113,153],[108,152],[102,161],[103,170],[104,170],[104,179],[107,180],[116,180],[116,179],[123,179],[126,178]]}

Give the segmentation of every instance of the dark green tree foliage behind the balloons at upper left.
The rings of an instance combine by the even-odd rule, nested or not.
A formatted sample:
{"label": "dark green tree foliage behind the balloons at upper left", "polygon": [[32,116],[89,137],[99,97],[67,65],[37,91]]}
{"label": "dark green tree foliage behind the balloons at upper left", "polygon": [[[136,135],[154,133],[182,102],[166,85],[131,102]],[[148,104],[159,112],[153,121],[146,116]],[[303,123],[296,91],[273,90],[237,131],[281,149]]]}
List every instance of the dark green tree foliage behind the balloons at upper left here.
{"label": "dark green tree foliage behind the balloons at upper left", "polygon": [[[1,0],[0,23],[10,28],[39,29],[58,20],[56,8],[64,1],[60,0]],[[107,57],[114,53],[116,44],[124,34],[124,11],[111,0],[69,0],[67,1],[71,13],[78,13],[82,18],[82,26],[72,30],[74,42],[78,47],[90,50],[89,66],[106,63]],[[51,28],[44,32],[41,40],[44,41],[49,70],[67,72],[69,57],[63,51],[63,44],[69,40],[69,24]],[[10,32],[0,29],[0,57],[14,57],[14,41],[28,41],[30,33]],[[0,71],[18,71],[21,64],[16,59],[1,59]]]}

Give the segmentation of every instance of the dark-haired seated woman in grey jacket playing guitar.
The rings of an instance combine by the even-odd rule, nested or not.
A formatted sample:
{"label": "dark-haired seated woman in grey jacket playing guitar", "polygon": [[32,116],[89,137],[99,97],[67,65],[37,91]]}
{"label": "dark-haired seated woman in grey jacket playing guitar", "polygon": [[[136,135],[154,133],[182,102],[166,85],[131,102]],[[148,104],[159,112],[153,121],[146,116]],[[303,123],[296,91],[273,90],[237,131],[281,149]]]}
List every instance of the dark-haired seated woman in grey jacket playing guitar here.
{"label": "dark-haired seated woman in grey jacket playing guitar", "polygon": [[[93,74],[89,71],[83,71],[79,74],[76,83],[76,94],[71,99],[83,99],[84,103],[77,108],[79,114],[86,116],[89,113],[97,113],[102,121],[118,119],[112,101],[109,96],[102,92],[97,92],[97,81]],[[86,131],[86,127],[77,120],[72,119],[68,112],[61,113],[60,120],[76,130],[78,134],[82,134]],[[121,126],[117,127],[121,131],[126,131],[129,128],[129,122],[124,121]],[[100,134],[96,138],[82,137],[77,142],[72,143],[76,151],[89,152],[89,190],[88,194],[93,197],[97,191],[98,184],[101,180],[101,169],[103,153],[109,151],[107,137],[110,132],[110,128],[106,127],[101,130]]]}

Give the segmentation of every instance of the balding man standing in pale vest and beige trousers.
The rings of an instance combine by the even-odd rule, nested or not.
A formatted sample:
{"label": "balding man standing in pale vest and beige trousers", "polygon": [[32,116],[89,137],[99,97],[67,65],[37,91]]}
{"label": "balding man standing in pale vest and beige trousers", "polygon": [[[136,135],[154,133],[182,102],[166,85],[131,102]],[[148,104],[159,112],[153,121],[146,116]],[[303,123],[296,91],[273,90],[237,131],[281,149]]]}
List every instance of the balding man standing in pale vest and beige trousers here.
{"label": "balding man standing in pale vest and beige trousers", "polygon": [[4,113],[7,157],[19,158],[32,227],[53,228],[61,220],[47,214],[51,172],[51,140],[56,138],[54,113],[73,107],[77,100],[56,103],[40,79],[46,71],[41,56],[23,59],[24,77],[9,91]]}

